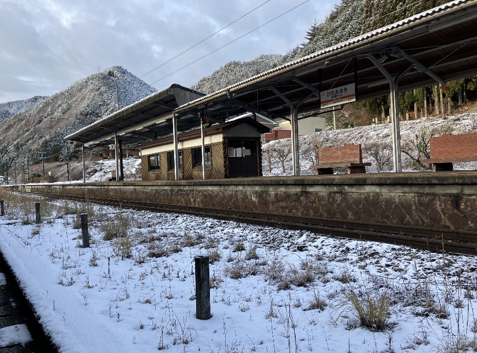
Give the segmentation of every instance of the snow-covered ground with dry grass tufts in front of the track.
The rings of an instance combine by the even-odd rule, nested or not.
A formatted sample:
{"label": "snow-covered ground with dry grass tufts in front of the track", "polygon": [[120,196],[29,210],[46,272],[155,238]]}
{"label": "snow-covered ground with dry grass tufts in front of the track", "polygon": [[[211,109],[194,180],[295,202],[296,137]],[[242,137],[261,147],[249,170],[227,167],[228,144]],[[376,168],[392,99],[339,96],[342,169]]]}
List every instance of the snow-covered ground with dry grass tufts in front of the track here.
{"label": "snow-covered ground with dry grass tufts in front of the track", "polygon": [[[36,199],[4,197],[0,248],[62,352],[477,349],[473,256],[42,199],[36,226]],[[212,262],[205,321],[196,254]]]}

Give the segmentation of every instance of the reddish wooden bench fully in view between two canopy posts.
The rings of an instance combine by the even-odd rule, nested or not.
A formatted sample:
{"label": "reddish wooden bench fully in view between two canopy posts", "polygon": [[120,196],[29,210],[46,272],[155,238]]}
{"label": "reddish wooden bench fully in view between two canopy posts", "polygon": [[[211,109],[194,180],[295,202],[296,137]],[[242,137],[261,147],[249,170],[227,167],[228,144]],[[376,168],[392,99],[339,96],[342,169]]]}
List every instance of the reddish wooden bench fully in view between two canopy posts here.
{"label": "reddish wooden bench fully in view between two canopy posts", "polygon": [[361,154],[361,144],[349,144],[340,147],[320,148],[318,150],[318,166],[312,166],[316,169],[316,174],[333,174],[333,168],[347,167],[348,174],[366,173],[366,166],[371,163],[363,163]]}

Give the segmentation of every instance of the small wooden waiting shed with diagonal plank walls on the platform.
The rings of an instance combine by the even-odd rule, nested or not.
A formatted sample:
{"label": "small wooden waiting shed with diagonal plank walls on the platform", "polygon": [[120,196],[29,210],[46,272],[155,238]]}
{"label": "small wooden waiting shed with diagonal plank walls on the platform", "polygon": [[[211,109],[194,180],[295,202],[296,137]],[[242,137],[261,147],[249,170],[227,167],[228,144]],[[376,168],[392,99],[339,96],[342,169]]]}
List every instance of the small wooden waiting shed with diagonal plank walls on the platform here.
{"label": "small wooden waiting shed with diagonal plank walls on the platform", "polygon": [[[204,129],[206,179],[261,176],[260,134],[270,129],[251,117]],[[179,179],[202,179],[201,130],[177,135]],[[142,180],[174,180],[173,136],[141,148]]]}

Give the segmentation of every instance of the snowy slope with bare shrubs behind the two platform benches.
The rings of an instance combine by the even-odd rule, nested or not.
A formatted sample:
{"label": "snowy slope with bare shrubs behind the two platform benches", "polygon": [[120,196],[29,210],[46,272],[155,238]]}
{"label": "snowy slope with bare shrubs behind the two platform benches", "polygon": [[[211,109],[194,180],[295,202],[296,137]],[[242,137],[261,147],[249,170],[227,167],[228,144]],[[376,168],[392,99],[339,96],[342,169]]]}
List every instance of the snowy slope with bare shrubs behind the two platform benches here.
{"label": "snowy slope with bare shrubs behind the two platform benches", "polygon": [[[424,142],[432,135],[443,133],[462,134],[477,132],[477,113],[466,113],[455,116],[426,117],[414,121],[400,122],[401,150],[417,157],[416,135],[419,142],[421,137]],[[371,167],[366,167],[367,172],[378,172],[377,158],[383,164],[379,171],[392,171],[392,136],[391,124],[362,126],[351,129],[330,130],[315,132],[310,135],[300,136],[300,170],[301,174],[315,174],[309,167],[316,164],[316,149],[324,146],[344,146],[346,144],[362,144],[363,161],[371,162]],[[314,148],[315,147],[315,148]],[[280,159],[277,152],[287,152],[291,149],[291,139],[272,141],[263,145],[263,172],[264,175],[290,175],[292,170],[291,154],[284,160],[285,172],[282,172]],[[271,154],[272,171],[270,172],[267,153]],[[423,159],[423,158],[422,158]],[[402,170],[423,170],[406,153],[401,153]],[[455,169],[477,169],[477,162],[455,163]]]}

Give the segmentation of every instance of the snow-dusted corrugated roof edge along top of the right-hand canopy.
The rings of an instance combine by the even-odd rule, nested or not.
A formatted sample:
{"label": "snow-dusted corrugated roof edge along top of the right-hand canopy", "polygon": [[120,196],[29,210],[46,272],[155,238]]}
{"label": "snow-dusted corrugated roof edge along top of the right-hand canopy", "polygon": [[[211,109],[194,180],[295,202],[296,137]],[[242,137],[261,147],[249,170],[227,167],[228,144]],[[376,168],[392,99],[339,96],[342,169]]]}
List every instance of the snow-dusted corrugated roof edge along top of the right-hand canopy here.
{"label": "snow-dusted corrugated roof edge along top of the right-hand canopy", "polygon": [[343,48],[346,48],[347,46],[350,46],[352,44],[356,44],[356,43],[359,43],[359,42],[362,42],[364,40],[367,40],[369,38],[372,38],[372,37],[376,37],[378,35],[382,35],[383,33],[386,33],[386,32],[389,32],[391,30],[394,30],[394,29],[397,29],[397,28],[400,28],[400,27],[403,27],[404,25],[409,25],[410,23],[416,21],[416,20],[419,20],[421,18],[425,18],[425,17],[428,17],[430,15],[433,15],[435,13],[438,13],[438,12],[441,12],[441,11],[444,11],[444,10],[447,10],[447,9],[450,9],[452,7],[455,7],[455,6],[458,6],[458,5],[461,5],[461,4],[464,4],[464,3],[473,3],[475,2],[475,0],[455,0],[455,1],[452,1],[450,3],[447,3],[447,4],[444,4],[444,5],[441,5],[441,6],[438,6],[438,7],[435,7],[431,10],[427,10],[427,11],[424,11],[424,12],[421,12],[419,14],[416,14],[414,16],[411,16],[411,17],[408,17],[406,19],[403,19],[403,20],[400,20],[398,22],[395,22],[395,23],[392,23],[392,25],[389,25],[389,26],[385,26],[385,27],[381,27],[377,30],[374,30],[374,31],[371,31],[371,32],[368,32],[368,33],[365,33],[359,37],[355,37],[355,38],[352,38],[348,41],[345,41],[345,42],[341,42],[341,43],[338,43],[336,45],[333,45],[333,46],[330,46],[329,48],[326,48],[326,49],[323,49],[321,51],[318,51],[316,53],[313,53],[313,54],[310,54],[310,55],[307,55],[307,56],[304,56],[302,58],[299,58],[297,60],[294,60],[294,61],[291,61],[291,62],[288,62],[288,63],[285,63],[281,66],[277,66],[275,68],[272,68],[266,72],[263,72],[261,74],[258,74],[258,75],[255,75],[253,77],[250,77],[246,80],[243,80],[241,82],[237,82],[233,85],[230,85],[226,88],[222,88],[216,92],[213,92],[213,93],[210,93],[209,95],[207,96],[204,96],[204,97],[201,97],[199,99],[196,99],[194,101],[191,101],[191,102],[188,102],[178,108],[175,109],[175,111],[180,111],[180,110],[183,110],[184,108],[187,108],[189,106],[192,106],[192,105],[196,105],[197,103],[200,103],[200,102],[204,102],[204,101],[208,101],[210,100],[211,98],[213,97],[216,97],[216,96],[221,96],[221,95],[224,95],[226,94],[227,90],[232,90],[233,88],[235,87],[239,87],[241,85],[244,85],[244,84],[247,84],[247,83],[250,83],[250,82],[253,82],[253,81],[256,81],[257,79],[259,78],[262,78],[262,77],[266,77],[266,76],[269,76],[271,74],[274,74],[274,73],[278,73],[280,72],[281,70],[283,69],[286,69],[286,68],[289,68],[289,67],[292,67],[292,66],[295,66],[295,65],[298,65],[300,63],[303,63],[305,61],[312,61],[313,59],[316,59],[316,58],[319,58],[320,56],[324,55],[324,54],[329,54],[331,52],[335,52],[337,50],[340,50],[340,49],[343,49]]}

